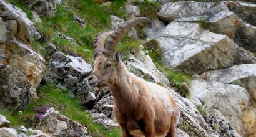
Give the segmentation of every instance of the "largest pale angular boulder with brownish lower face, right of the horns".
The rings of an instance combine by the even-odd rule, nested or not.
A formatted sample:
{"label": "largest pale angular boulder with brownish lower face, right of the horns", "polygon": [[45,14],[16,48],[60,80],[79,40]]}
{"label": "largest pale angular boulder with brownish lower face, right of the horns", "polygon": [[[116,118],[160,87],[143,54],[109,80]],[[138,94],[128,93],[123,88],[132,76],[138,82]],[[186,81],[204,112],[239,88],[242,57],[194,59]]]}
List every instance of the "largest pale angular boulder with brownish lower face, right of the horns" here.
{"label": "largest pale angular boulder with brownish lower face, right of the horns", "polygon": [[197,23],[172,22],[160,32],[157,41],[165,63],[188,73],[256,62],[254,54],[239,47],[229,37],[202,29]]}

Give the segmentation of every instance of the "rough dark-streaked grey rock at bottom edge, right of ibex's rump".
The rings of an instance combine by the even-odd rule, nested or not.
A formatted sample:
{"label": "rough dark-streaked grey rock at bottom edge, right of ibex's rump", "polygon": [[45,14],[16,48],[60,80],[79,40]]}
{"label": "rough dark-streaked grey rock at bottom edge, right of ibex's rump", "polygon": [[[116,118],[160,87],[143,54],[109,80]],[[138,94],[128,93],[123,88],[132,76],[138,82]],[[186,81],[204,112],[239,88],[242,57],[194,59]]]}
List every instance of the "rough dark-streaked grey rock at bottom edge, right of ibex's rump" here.
{"label": "rough dark-streaked grey rock at bottom edge, right of ibex's rump", "polygon": [[235,131],[235,129],[229,124],[229,121],[216,109],[209,111],[209,116],[207,116],[207,123],[214,127],[214,132],[221,137],[240,137],[240,135]]}

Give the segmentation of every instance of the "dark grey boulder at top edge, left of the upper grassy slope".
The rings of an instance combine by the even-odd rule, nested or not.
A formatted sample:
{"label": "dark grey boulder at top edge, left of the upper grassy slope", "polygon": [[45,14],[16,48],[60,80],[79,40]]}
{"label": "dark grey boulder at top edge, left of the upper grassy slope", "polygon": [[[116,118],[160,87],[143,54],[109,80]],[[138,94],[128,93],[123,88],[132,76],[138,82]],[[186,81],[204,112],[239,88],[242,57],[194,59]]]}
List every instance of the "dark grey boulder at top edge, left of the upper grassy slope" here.
{"label": "dark grey boulder at top edge, left of the upper grassy slope", "polygon": [[23,2],[39,16],[54,16],[56,14],[55,0],[23,0]]}

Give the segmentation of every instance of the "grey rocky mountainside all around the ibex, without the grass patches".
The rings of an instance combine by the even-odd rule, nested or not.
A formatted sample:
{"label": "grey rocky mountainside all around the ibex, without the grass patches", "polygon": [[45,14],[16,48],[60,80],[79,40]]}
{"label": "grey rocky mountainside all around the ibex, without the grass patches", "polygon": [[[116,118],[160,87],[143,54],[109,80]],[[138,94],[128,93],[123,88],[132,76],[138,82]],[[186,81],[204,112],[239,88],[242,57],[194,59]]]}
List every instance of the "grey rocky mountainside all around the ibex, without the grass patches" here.
{"label": "grey rocky mountainside all around the ibex, without the grass patches", "polygon": [[[33,11],[32,22],[11,1],[0,0],[0,108],[9,113],[26,109],[29,102],[42,97],[39,96],[42,95],[40,87],[51,82],[90,111],[95,123],[107,130],[115,129],[118,125],[112,115],[111,92],[107,88],[92,89],[87,84],[93,60],[62,47],[56,48],[40,27],[39,22],[61,12],[58,6],[72,10],[64,2],[22,2]],[[114,4],[114,1],[97,2],[102,6]],[[180,110],[177,136],[256,136],[256,4],[241,1],[150,2],[149,6],[159,5],[159,10],[155,12],[157,17],[152,19],[152,26],[142,29],[146,39],[140,39],[141,30],[137,27],[142,26],[133,28],[128,37],[142,43],[157,41],[163,63],[169,69],[192,75],[189,97],[175,92],[179,87],[170,86],[171,79],[154,64],[162,60],[150,57],[144,48],[132,50],[122,58],[130,72],[170,88]],[[127,1],[123,11],[126,19],[145,15],[145,3],[147,1]],[[109,29],[116,29],[124,22],[114,15],[109,18]],[[79,28],[90,31],[82,17],[74,16],[72,20],[81,25]],[[61,32],[54,34],[72,47],[81,44]],[[44,42],[46,55],[33,48],[34,40]],[[90,129],[86,123],[81,125],[55,109],[44,106],[43,111],[41,108],[37,113],[36,121],[28,118],[36,130],[22,125],[10,126],[10,121],[2,114],[0,136],[93,136],[87,131]]]}

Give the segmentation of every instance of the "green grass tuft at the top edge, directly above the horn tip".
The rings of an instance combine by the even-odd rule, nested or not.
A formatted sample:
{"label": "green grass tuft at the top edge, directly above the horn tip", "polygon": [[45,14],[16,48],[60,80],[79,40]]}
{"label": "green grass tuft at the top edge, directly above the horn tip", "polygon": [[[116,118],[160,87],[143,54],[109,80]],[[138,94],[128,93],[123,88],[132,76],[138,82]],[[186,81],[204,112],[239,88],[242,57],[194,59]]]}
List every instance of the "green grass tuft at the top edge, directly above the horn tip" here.
{"label": "green grass tuft at the top edge, directly above the horn tip", "polygon": [[156,19],[157,12],[161,7],[159,2],[149,2],[148,0],[144,0],[144,2],[134,2],[134,5],[140,7],[140,16],[144,16],[149,19]]}

